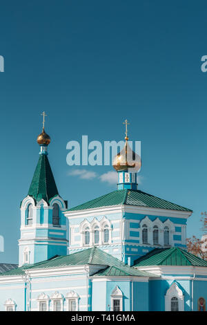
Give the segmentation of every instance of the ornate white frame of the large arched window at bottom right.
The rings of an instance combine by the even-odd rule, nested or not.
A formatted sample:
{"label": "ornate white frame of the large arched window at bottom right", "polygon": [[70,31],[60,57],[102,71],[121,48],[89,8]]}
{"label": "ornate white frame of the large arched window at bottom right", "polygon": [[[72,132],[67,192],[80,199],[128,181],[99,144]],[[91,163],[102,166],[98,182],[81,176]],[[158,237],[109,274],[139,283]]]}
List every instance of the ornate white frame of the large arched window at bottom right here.
{"label": "ornate white frame of the large arched window at bottom right", "polygon": [[184,294],[182,290],[177,286],[176,282],[173,282],[170,288],[168,288],[165,295],[165,310],[171,311],[171,299],[176,297],[178,299],[179,311],[184,311]]}

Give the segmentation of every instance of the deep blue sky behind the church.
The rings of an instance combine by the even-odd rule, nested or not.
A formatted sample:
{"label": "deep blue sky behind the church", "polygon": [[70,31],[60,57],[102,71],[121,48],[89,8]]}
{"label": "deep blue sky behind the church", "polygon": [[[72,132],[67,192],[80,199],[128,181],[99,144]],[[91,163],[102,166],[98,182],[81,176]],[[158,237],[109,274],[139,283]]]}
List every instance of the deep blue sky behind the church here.
{"label": "deep blue sky behind the church", "polygon": [[206,1],[4,1],[0,12],[0,262],[17,262],[20,201],[36,167],[42,111],[59,193],[74,206],[111,192],[80,167],[71,176],[70,140],[141,140],[139,189],[193,209],[188,236],[207,210]]}

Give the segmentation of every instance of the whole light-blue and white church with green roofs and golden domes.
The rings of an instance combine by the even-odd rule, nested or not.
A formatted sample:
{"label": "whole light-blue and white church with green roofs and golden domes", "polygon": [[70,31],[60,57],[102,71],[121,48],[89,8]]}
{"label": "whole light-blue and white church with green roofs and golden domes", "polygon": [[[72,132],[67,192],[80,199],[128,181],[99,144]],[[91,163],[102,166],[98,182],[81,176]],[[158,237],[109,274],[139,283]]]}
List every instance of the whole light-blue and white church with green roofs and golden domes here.
{"label": "whole light-blue and white church with green roofs and golden domes", "polygon": [[117,189],[68,207],[43,127],[20,207],[19,265],[0,268],[1,311],[206,310],[207,261],[186,249],[193,212],[139,189],[141,160],[125,140],[112,164]]}

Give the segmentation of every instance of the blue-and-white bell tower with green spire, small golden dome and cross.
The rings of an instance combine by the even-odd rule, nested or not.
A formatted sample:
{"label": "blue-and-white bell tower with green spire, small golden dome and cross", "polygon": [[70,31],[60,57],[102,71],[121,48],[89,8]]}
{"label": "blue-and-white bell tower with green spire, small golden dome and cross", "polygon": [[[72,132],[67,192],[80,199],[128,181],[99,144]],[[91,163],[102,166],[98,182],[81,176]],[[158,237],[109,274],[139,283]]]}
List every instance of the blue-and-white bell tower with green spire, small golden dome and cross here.
{"label": "blue-and-white bell tower with green spire, small golden dome and cross", "polygon": [[39,160],[34,171],[28,196],[21,202],[21,238],[19,266],[33,264],[66,255],[68,249],[66,217],[67,201],[63,201],[48,160],[50,136],[43,129],[37,137]]}

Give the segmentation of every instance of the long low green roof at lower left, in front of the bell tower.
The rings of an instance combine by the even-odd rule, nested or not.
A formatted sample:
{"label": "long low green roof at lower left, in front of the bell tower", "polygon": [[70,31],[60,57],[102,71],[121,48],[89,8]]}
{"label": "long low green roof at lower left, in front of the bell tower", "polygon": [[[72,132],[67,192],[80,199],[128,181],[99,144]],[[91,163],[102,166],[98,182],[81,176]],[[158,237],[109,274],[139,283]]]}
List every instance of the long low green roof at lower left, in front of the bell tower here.
{"label": "long low green roof at lower left, in front of the bell tower", "polygon": [[[46,269],[46,268],[61,268],[63,266],[82,266],[87,264],[95,264],[102,266],[113,266],[119,269],[124,275],[134,275],[138,277],[154,277],[148,272],[136,270],[135,268],[130,268],[130,266],[124,264],[119,259],[112,257],[112,255],[103,252],[97,247],[88,248],[86,250],[81,250],[73,254],[66,256],[59,256],[48,261],[42,261],[35,263],[31,266],[21,266],[15,270],[4,272],[1,276],[10,276],[10,275],[21,275],[24,273],[24,270],[36,270],[36,269]],[[114,271],[113,271],[114,272]]]}

